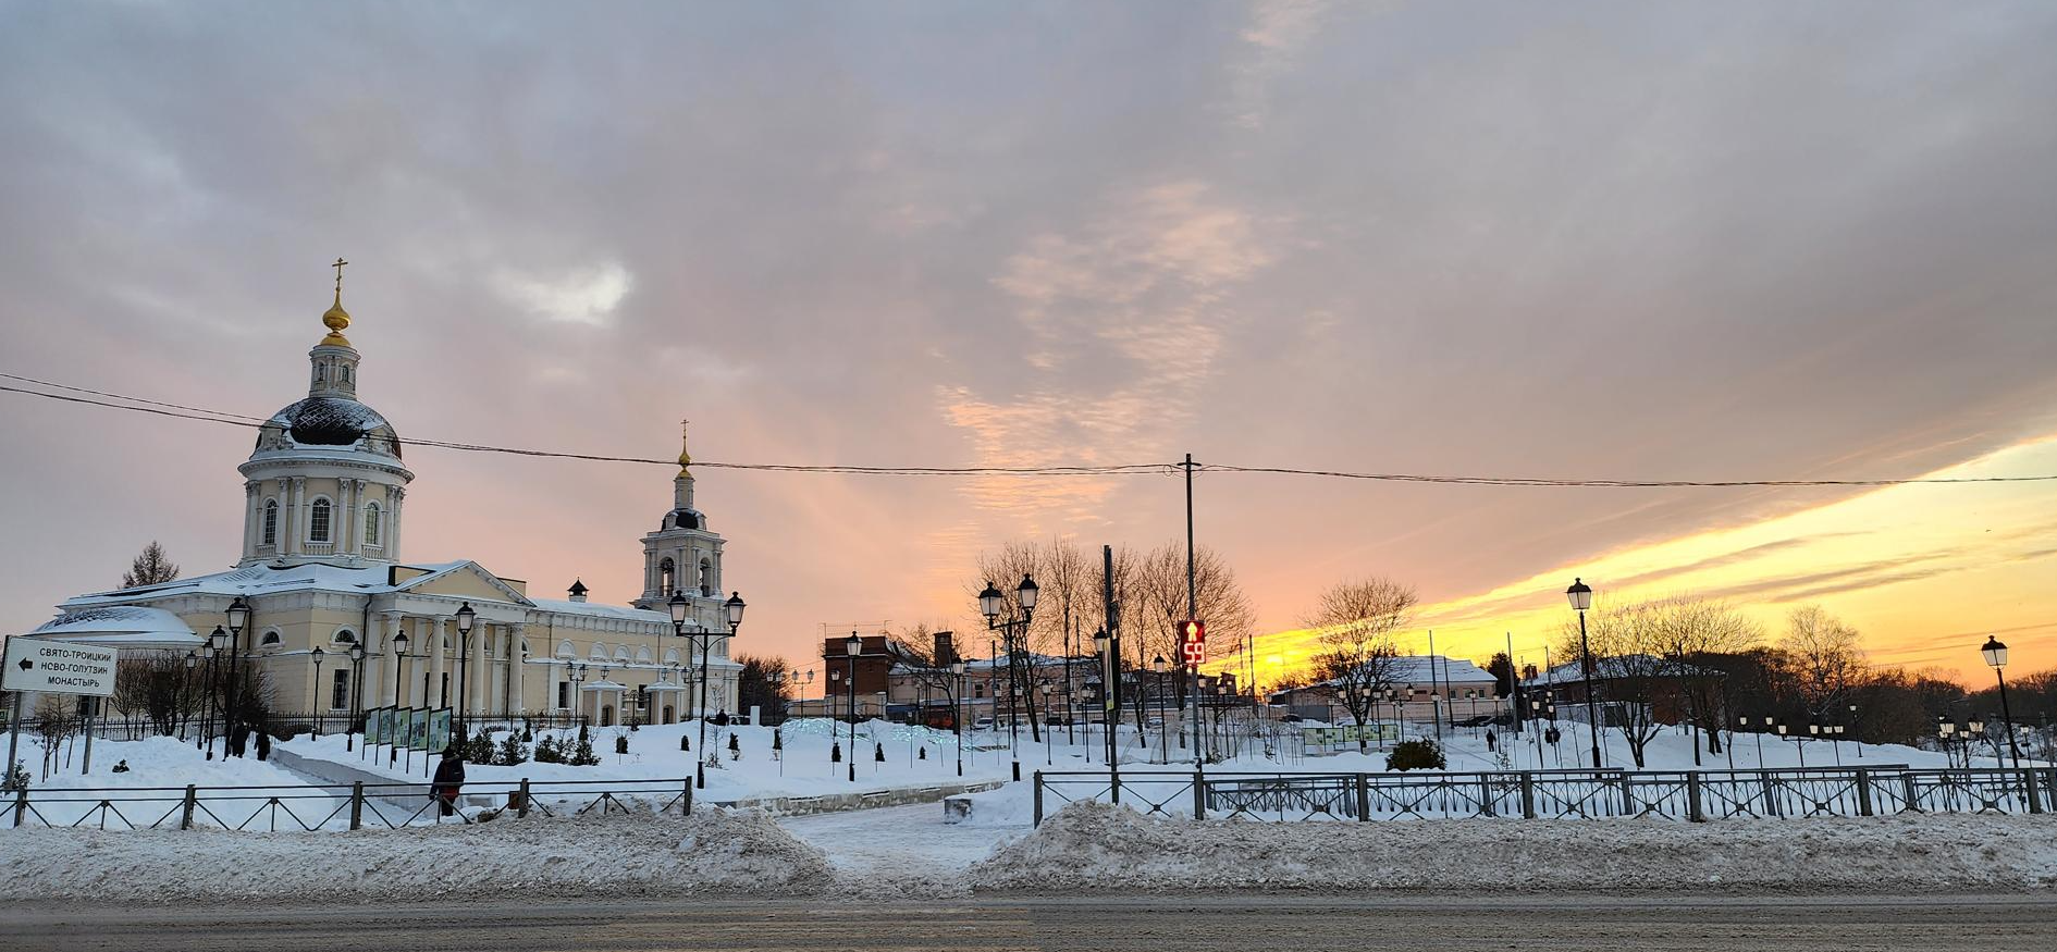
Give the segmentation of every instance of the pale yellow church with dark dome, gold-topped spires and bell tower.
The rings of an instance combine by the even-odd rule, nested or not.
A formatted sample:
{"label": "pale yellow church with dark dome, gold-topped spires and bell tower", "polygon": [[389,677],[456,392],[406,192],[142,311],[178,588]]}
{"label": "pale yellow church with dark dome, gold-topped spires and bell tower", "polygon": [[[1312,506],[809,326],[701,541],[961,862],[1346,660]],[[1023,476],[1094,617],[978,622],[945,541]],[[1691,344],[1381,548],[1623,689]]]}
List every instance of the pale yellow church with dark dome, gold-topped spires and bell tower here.
{"label": "pale yellow church with dark dome, gold-topped spires and bell tower", "polygon": [[[306,397],[257,430],[243,461],[243,557],[228,572],[80,594],[33,637],[119,650],[197,652],[228,627],[272,685],[272,711],[350,716],[381,705],[469,713],[584,713],[592,724],[669,724],[699,703],[708,646],[708,713],[732,711],[736,672],[722,598],[724,539],[693,504],[681,446],[671,506],[642,537],[634,605],[537,598],[529,582],[471,559],[409,561],[405,514],[413,473],[385,415],[358,399],[358,350],[344,337],[341,263],[329,333],[309,352]],[[685,623],[671,598],[683,596]],[[738,600],[741,605],[741,600]],[[461,631],[469,609],[471,631]],[[405,635],[405,642],[401,642]],[[405,654],[401,654],[405,644]],[[362,660],[352,662],[352,646]]]}

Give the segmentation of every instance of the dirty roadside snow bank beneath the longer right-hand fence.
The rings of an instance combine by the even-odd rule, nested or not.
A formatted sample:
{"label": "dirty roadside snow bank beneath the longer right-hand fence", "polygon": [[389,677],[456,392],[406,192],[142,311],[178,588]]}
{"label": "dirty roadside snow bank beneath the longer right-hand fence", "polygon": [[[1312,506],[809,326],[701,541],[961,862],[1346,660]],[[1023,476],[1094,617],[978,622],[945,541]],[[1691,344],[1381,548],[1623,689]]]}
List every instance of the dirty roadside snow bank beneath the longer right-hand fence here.
{"label": "dirty roadside snow bank beneath the longer right-hand fence", "polygon": [[973,864],[975,890],[2053,888],[2053,816],[1158,820],[1072,804]]}

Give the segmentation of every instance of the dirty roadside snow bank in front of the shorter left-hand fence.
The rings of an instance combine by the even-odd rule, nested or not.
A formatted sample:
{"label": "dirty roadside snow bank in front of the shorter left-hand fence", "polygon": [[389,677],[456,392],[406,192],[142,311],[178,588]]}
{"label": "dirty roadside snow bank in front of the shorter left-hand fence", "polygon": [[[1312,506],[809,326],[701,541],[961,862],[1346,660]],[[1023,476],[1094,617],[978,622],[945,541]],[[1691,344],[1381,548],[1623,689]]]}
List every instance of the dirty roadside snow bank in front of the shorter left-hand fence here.
{"label": "dirty roadside snow bank in front of the shorter left-hand fence", "polygon": [[761,814],[728,810],[360,833],[10,829],[0,843],[0,901],[790,896],[831,884],[819,849]]}

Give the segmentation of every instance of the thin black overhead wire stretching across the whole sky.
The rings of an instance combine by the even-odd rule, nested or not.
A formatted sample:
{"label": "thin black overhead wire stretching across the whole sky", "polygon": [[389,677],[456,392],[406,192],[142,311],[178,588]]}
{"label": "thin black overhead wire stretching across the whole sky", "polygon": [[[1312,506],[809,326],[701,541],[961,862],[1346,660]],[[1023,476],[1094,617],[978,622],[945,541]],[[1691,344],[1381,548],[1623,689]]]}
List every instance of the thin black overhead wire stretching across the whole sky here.
{"label": "thin black overhead wire stretching across the whole sky", "polygon": [[[0,378],[29,382],[37,387],[51,387],[70,393],[45,393],[31,391],[23,387],[0,385],[0,393],[16,393],[27,397],[41,397],[47,401],[78,403],[88,407],[105,409],[125,409],[132,413],[150,413],[175,419],[200,419],[204,424],[226,424],[241,428],[261,428],[265,419],[251,417],[243,413],[228,413],[208,407],[191,407],[185,403],[152,401],[144,397],[128,397],[121,393],[93,391],[86,387],[72,387],[51,380],[39,380],[33,376],[6,374]],[[105,399],[95,399],[105,397]],[[125,401],[125,403],[111,403]],[[671,467],[679,461],[675,459],[646,459],[646,456],[607,456],[594,452],[564,452],[564,450],[535,450],[520,446],[490,446],[475,442],[455,442],[455,440],[430,440],[430,438],[407,438],[407,446],[432,446],[442,450],[459,452],[500,452],[510,456],[537,456],[537,459],[570,459],[586,463],[636,463],[652,467]],[[839,473],[839,475],[932,475],[932,477],[977,477],[977,475],[1012,475],[1012,477],[1098,477],[1098,475],[1170,475],[1179,473],[1181,463],[1119,463],[1119,465],[1096,465],[1096,467],[860,467],[845,463],[827,465],[800,465],[800,463],[718,463],[718,461],[695,461],[695,467],[703,469],[747,469],[759,473]],[[1586,489],[1732,489],[1732,487],[1884,487],[1884,485],[1950,485],[1950,483],[2049,483],[2057,481],[2057,475],[2018,475],[2018,477],[1911,477],[1911,479],[1545,479],[1545,477],[1471,477],[1471,475],[1426,475],[1426,473],[1351,473],[1339,469],[1294,469],[1294,467],[1242,467],[1228,463],[1199,463],[1195,465],[1199,473],[1255,473],[1255,475],[1302,475],[1321,479],[1358,479],[1358,481],[1382,481],[1382,483],[1442,483],[1442,485],[1526,485],[1526,487],[1586,487]]]}

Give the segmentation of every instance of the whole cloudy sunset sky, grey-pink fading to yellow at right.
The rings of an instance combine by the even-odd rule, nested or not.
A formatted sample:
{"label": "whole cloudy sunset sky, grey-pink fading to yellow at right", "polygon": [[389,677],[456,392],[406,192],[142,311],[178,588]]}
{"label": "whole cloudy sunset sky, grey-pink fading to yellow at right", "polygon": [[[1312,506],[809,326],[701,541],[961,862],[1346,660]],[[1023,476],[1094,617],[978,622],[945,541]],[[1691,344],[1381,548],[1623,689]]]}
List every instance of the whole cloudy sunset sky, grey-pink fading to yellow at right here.
{"label": "whole cloudy sunset sky, grey-pink fading to yellow at right", "polygon": [[[2057,4],[0,0],[0,372],[267,415],[327,261],[401,438],[847,465],[2057,475]],[[253,436],[0,393],[0,627],[239,551]],[[409,448],[405,557],[640,592],[671,469]],[[975,625],[1008,539],[1177,477],[701,469],[738,650]],[[2057,666],[2057,483],[1212,473],[1267,633],[1356,576],[1438,650],[1584,576],[1876,662]],[[1409,648],[1426,650],[1421,631]]]}

